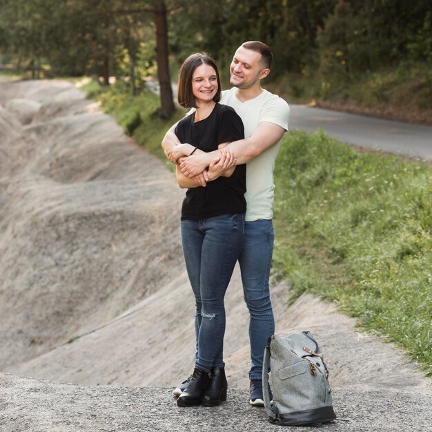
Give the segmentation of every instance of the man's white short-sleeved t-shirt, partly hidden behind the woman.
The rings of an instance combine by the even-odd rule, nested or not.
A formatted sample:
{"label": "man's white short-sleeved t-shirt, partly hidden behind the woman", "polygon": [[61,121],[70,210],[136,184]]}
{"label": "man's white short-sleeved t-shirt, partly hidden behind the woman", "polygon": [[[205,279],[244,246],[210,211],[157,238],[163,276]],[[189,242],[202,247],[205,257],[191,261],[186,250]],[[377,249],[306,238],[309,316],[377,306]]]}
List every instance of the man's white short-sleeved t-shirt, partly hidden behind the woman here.
{"label": "man's white short-sleeved t-shirt, partly hidden behind the woman", "polygon": [[[264,90],[254,99],[241,102],[237,99],[236,90],[237,88],[233,87],[223,91],[220,103],[233,107],[241,117],[245,138],[252,135],[261,121],[268,121],[288,130],[290,109],[284,99]],[[273,169],[281,141],[246,164],[246,221],[273,217]]]}

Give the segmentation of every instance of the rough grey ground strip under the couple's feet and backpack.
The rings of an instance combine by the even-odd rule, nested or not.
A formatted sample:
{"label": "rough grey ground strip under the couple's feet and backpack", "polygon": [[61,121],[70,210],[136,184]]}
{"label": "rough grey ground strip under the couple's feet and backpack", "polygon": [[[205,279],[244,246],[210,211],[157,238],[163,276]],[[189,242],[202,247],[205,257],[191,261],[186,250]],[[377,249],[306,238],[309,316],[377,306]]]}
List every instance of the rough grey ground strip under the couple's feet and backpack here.
{"label": "rough grey ground strip under the couple's feet and backpack", "polygon": [[[1,432],[307,432],[276,426],[248,392],[228,391],[217,407],[179,408],[164,387],[75,386],[0,373]],[[334,389],[337,418],[323,432],[431,431],[431,395],[372,389]]]}

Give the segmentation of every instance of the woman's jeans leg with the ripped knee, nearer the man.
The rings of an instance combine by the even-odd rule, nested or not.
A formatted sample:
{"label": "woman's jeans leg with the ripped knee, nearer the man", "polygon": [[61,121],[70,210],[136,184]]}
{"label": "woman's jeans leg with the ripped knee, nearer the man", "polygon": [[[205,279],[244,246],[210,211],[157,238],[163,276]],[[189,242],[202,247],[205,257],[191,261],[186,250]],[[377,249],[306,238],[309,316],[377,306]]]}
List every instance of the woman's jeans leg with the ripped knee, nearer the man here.
{"label": "woman's jeans leg with the ripped knee, nearer the man", "polygon": [[242,250],[244,215],[210,217],[202,219],[199,224],[204,239],[199,279],[202,308],[196,366],[210,371],[213,366],[224,366],[224,297]]}

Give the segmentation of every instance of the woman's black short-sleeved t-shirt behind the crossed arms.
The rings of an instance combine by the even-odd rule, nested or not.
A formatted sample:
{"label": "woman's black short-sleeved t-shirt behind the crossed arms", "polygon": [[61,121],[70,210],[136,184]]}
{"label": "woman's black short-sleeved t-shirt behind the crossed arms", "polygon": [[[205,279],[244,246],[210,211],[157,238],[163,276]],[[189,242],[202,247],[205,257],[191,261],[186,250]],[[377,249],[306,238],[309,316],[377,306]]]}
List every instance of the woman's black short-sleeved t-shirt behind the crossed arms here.
{"label": "woman's black short-sleeved t-shirt behind the crossed arms", "polygon": [[[244,138],[242,119],[233,108],[216,104],[210,115],[194,123],[194,115],[179,121],[175,135],[182,143],[191,144],[204,152],[217,150],[224,142]],[[181,219],[201,219],[244,213],[246,211],[246,165],[237,165],[230,177],[209,181],[204,188],[189,188],[181,207]]]}

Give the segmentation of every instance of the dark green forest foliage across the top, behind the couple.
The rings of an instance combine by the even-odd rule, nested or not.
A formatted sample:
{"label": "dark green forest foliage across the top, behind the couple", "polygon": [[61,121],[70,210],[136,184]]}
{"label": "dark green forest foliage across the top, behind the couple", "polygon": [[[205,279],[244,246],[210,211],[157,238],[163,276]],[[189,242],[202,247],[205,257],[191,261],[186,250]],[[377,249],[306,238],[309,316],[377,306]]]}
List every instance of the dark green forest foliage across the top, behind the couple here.
{"label": "dark green forest foliage across the top, behind the couple", "polygon": [[[0,0],[0,52],[50,74],[142,77],[155,64],[160,0]],[[166,0],[177,65],[207,51],[227,70],[245,40],[273,48],[286,72],[357,79],[400,61],[432,61],[431,8],[404,0]],[[205,21],[203,20],[205,17]],[[391,17],[391,19],[389,19]]]}

